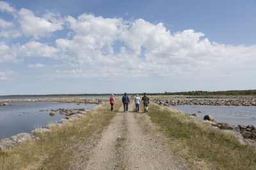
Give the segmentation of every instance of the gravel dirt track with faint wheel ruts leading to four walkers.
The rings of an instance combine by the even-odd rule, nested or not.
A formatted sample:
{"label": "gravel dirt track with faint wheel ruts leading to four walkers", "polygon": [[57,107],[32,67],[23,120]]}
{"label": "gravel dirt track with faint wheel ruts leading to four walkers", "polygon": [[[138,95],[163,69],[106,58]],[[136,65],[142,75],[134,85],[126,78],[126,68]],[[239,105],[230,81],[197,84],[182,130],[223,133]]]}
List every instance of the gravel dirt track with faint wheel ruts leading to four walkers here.
{"label": "gravel dirt track with faint wheel ruts leading to four walkers", "polygon": [[72,169],[189,169],[165,145],[147,114],[134,112],[134,106],[129,104],[129,112],[120,107],[90,153],[80,154],[88,155],[88,164],[73,164]]}

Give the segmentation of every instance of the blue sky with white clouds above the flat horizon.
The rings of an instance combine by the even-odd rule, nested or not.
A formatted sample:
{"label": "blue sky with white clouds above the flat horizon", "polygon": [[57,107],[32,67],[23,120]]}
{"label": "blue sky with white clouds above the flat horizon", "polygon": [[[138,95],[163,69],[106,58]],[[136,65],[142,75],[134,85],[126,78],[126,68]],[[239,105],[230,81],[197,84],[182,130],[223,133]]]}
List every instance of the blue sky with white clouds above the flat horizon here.
{"label": "blue sky with white clouds above the flat horizon", "polygon": [[0,95],[256,89],[256,1],[0,1]]}

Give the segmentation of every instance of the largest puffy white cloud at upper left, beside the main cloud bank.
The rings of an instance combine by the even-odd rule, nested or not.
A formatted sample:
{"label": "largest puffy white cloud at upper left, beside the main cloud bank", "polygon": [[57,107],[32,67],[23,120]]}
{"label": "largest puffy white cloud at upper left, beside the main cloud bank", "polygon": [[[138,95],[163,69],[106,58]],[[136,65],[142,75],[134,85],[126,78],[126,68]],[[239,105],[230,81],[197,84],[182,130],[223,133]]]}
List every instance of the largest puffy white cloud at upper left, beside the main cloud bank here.
{"label": "largest puffy white cloud at upper left, beside the main cloud bank", "polygon": [[33,12],[22,8],[19,11],[20,27],[26,36],[33,36],[38,39],[44,36],[50,36],[54,31],[62,30],[62,22],[52,15],[45,14],[45,19],[36,17]]}

